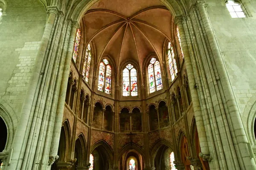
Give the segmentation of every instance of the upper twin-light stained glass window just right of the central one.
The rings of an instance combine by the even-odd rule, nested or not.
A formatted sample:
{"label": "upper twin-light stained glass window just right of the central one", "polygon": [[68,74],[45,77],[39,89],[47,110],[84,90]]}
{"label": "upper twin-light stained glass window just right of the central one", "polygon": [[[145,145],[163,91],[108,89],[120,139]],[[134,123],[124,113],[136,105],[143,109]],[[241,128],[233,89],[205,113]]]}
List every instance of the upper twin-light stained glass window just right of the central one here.
{"label": "upper twin-light stained glass window just right of the central one", "polygon": [[162,76],[160,70],[160,63],[152,58],[148,65],[148,82],[149,82],[149,93],[159,91],[163,88]]}

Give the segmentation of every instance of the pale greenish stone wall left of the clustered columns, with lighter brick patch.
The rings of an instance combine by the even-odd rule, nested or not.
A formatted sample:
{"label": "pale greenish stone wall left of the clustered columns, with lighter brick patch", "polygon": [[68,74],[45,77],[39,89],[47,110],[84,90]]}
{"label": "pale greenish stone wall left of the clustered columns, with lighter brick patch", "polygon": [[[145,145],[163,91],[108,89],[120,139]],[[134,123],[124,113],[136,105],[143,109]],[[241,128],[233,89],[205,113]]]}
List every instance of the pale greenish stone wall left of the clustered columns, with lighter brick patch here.
{"label": "pale greenish stone wall left of the clustered columns, with lighter brick patch", "polygon": [[19,117],[47,15],[38,0],[8,0],[6,7],[0,20],[0,99]]}

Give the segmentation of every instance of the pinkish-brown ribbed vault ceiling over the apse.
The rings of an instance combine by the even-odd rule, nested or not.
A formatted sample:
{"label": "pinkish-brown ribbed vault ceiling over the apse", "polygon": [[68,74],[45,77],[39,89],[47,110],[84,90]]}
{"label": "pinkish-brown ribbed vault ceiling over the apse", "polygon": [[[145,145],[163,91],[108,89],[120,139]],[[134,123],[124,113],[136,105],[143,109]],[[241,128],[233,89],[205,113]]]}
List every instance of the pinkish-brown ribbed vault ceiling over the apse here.
{"label": "pinkish-brown ribbed vault ceiling over the apse", "polygon": [[141,66],[148,54],[162,59],[171,39],[172,15],[159,0],[100,0],[84,14],[86,42],[94,42],[97,60],[113,57],[117,68],[128,59]]}

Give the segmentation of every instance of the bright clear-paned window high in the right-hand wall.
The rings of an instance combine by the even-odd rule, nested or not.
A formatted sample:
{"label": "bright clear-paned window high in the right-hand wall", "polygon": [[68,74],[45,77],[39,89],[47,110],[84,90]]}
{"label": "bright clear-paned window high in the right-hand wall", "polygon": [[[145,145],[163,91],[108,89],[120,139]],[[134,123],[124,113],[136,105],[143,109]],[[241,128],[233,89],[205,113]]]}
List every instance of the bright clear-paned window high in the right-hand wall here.
{"label": "bright clear-paned window high in the right-hand wall", "polygon": [[230,12],[232,18],[244,18],[245,14],[239,3],[228,0],[226,3],[227,9]]}

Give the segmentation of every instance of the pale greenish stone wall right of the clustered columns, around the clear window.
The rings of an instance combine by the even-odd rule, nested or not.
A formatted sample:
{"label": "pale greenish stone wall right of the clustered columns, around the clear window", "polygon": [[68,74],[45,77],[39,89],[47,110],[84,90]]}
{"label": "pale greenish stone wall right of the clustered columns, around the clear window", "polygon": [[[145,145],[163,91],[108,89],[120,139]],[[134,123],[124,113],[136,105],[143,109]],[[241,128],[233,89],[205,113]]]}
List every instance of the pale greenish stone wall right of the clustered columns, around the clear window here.
{"label": "pale greenish stone wall right of the clustered columns, around the clear window", "polygon": [[232,18],[221,0],[210,0],[208,4],[207,11],[242,115],[256,93],[256,1],[243,3],[247,18]]}

